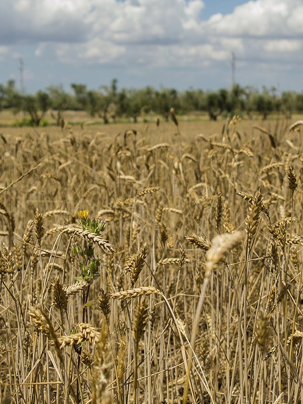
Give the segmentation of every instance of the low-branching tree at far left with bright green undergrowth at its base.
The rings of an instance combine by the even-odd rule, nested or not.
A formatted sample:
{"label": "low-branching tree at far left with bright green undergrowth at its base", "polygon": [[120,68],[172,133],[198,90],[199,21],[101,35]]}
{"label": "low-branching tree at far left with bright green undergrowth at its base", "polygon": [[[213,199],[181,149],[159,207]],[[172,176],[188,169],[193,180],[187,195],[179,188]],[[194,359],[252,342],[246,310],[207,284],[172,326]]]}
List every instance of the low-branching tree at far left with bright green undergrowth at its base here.
{"label": "low-branching tree at far left with bright green undergrowth at its base", "polygon": [[46,92],[38,91],[35,95],[26,95],[22,105],[24,111],[31,117],[33,125],[39,126],[45,113],[51,107],[51,102]]}

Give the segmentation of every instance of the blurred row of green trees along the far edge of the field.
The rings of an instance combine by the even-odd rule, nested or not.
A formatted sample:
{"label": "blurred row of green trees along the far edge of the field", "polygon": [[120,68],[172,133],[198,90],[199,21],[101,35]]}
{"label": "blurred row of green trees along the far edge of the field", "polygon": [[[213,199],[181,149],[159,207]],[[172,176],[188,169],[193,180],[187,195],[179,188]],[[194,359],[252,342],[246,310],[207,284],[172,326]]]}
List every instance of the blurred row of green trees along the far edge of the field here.
{"label": "blurred row of green trees along the far edge of the field", "polygon": [[188,89],[177,91],[173,88],[157,90],[147,86],[141,89],[118,88],[117,79],[108,86],[89,90],[84,84],[71,84],[71,92],[62,86],[50,86],[35,94],[22,94],[17,90],[15,81],[0,84],[0,111],[12,109],[14,113],[23,111],[28,114],[32,125],[39,126],[45,114],[51,111],[57,125],[62,124],[67,110],[86,111],[92,118],[99,118],[107,124],[121,118],[137,122],[139,117],[156,114],[167,121],[170,109],[177,115],[207,113],[210,120],[218,117],[239,115],[252,118],[258,114],[267,119],[269,114],[283,114],[290,118],[293,113],[303,113],[303,93],[254,87],[241,87],[235,84],[231,89],[203,91]]}

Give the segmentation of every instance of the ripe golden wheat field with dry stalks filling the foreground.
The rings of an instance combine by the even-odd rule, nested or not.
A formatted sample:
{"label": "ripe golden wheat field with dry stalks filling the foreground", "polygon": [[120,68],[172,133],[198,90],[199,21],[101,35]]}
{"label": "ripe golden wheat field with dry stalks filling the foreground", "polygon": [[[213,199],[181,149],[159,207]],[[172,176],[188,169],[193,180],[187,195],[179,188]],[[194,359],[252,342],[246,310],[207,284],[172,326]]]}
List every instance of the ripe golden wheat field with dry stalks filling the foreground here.
{"label": "ripe golden wheat field with dry stalks filling the foreground", "polygon": [[303,402],[303,128],[171,118],[2,130],[1,403]]}

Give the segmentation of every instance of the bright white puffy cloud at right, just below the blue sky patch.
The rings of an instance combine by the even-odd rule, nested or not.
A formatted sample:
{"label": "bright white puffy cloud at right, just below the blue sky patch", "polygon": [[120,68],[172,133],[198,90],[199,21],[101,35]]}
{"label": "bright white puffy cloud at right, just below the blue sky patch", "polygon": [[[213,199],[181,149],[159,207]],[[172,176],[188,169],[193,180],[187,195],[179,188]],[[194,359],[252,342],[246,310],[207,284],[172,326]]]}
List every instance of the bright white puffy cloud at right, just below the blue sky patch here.
{"label": "bright white puffy cloud at right, just below the blue sky patch", "polygon": [[302,21],[302,0],[256,0],[231,14],[212,16],[206,29],[213,40],[236,53],[239,63],[289,65],[302,59]]}

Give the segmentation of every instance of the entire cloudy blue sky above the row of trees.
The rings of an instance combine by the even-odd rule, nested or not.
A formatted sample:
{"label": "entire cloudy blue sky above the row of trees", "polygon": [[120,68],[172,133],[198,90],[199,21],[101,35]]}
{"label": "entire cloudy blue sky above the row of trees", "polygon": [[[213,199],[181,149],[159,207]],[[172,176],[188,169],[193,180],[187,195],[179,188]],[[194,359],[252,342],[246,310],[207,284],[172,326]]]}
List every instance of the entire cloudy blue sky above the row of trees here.
{"label": "entire cloudy blue sky above the row of trees", "polygon": [[0,0],[0,83],[303,90],[303,0]]}

